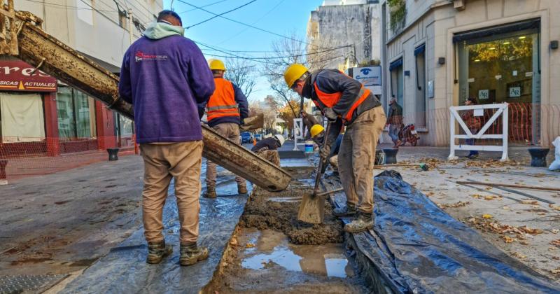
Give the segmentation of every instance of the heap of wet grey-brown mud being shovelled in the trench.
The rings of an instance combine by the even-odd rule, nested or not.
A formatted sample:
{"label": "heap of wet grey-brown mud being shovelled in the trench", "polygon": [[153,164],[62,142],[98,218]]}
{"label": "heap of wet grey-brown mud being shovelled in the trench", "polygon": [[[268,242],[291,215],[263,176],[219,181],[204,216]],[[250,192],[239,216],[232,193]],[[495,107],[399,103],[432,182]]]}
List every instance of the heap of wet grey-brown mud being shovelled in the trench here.
{"label": "heap of wet grey-brown mud being shovelled in the trench", "polygon": [[293,244],[342,243],[342,221],[332,216],[332,207],[328,202],[325,202],[323,223],[311,225],[297,220],[303,193],[311,193],[311,189],[293,186],[281,193],[255,190],[246,204],[239,226],[283,232]]}

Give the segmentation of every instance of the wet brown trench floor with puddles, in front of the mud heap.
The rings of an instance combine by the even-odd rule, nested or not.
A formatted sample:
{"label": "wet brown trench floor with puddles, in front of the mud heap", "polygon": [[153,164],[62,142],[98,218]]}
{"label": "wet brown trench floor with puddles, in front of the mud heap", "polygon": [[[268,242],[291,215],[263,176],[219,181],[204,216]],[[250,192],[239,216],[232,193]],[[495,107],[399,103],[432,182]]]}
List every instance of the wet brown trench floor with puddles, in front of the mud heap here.
{"label": "wet brown trench floor with puddles, in front of the mud heap", "polygon": [[241,228],[215,293],[368,293],[342,244],[294,245],[273,230]]}

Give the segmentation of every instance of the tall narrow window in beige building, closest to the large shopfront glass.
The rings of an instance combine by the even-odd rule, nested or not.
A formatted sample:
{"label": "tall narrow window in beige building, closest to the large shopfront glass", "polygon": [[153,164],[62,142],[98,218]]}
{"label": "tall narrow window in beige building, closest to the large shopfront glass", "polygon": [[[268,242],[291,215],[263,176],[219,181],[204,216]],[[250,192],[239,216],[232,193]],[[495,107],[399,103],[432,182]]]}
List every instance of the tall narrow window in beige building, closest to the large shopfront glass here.
{"label": "tall narrow window in beige building, closest to the large shopfront glass", "polygon": [[419,45],[414,49],[416,59],[416,127],[426,128],[426,45]]}

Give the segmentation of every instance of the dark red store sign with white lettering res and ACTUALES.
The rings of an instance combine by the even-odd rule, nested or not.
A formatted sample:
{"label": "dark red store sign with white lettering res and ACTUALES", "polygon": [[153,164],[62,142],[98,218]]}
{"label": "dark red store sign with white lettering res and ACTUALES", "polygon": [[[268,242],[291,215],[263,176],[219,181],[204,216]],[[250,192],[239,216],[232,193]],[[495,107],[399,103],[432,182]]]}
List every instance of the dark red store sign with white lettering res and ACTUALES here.
{"label": "dark red store sign with white lettering res and ACTUALES", "polygon": [[20,60],[0,60],[0,91],[57,92],[57,79]]}

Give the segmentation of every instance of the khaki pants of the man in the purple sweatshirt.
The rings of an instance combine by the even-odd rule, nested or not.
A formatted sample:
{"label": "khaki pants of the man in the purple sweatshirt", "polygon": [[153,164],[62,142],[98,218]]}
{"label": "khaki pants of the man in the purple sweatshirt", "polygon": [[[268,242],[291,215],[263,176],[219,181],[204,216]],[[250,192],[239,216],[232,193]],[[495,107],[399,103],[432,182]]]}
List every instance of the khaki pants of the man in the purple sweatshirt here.
{"label": "khaki pants of the man in the purple sweatshirt", "polygon": [[144,158],[142,218],[146,241],[163,240],[163,206],[171,179],[181,223],[181,243],[196,242],[200,212],[202,141],[141,144]]}

